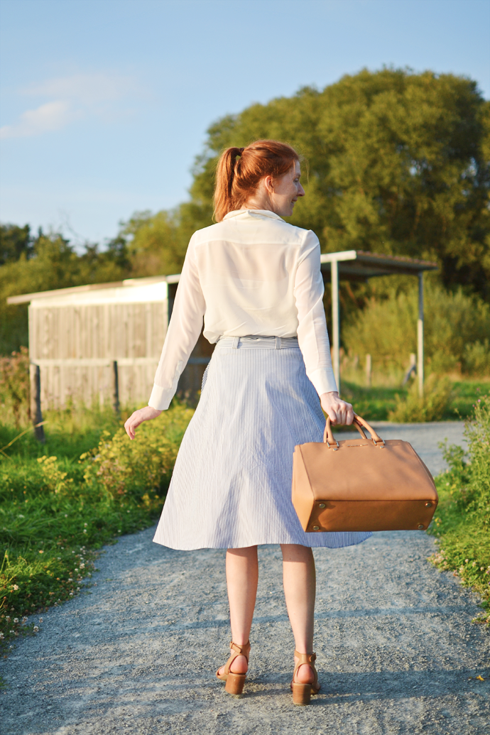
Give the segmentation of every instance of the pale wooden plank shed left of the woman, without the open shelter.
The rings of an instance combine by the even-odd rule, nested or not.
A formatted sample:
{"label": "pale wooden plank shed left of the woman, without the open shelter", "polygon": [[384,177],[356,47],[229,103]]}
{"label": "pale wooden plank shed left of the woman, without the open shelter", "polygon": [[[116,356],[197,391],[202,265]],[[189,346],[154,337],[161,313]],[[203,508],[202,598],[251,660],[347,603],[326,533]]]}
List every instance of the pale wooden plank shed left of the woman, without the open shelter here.
{"label": "pale wooden plank shed left of the woman, without the open shelter", "polygon": [[[32,393],[37,374],[42,408],[148,401],[179,278],[127,279],[10,297],[9,304],[29,302]],[[201,336],[179,381],[180,395],[189,398],[200,389],[211,354],[212,345]]]}

